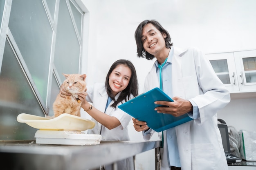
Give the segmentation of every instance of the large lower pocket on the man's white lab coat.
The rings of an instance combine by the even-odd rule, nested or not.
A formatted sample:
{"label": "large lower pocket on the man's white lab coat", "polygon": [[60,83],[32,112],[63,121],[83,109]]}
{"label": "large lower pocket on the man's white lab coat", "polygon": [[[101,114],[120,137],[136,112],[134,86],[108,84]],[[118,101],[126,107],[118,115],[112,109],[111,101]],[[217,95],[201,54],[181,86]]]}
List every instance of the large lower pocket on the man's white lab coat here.
{"label": "large lower pocket on the man's white lab coat", "polygon": [[212,144],[192,144],[192,170],[216,170]]}

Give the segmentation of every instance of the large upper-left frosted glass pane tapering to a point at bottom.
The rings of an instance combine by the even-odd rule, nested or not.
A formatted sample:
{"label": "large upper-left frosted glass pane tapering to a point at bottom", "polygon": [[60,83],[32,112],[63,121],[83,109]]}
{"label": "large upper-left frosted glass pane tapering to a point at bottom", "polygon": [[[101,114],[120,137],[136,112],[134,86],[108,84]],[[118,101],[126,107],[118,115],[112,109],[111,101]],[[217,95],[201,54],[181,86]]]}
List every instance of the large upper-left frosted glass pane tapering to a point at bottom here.
{"label": "large upper-left frosted glass pane tapering to a point at bottom", "polygon": [[42,0],[13,0],[9,28],[41,97],[46,101],[52,28]]}

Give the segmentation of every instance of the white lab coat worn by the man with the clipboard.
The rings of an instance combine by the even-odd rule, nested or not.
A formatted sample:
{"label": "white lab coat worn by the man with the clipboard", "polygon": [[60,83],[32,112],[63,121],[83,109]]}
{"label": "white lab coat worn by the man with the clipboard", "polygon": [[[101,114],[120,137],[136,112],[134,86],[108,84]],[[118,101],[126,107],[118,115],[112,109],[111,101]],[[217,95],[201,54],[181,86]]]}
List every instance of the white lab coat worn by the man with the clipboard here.
{"label": "white lab coat worn by the man with the clipboard", "polygon": [[[229,91],[216,76],[205,55],[195,48],[174,50],[172,59],[173,97],[192,99],[200,117],[176,126],[177,144],[182,170],[227,170],[227,161],[217,111],[230,101]],[[159,87],[155,64],[145,79],[145,91]],[[149,140],[151,135],[144,136]],[[160,135],[159,135],[160,136]],[[161,138],[160,138],[161,139]],[[161,150],[161,170],[170,170],[167,162],[166,131]]]}

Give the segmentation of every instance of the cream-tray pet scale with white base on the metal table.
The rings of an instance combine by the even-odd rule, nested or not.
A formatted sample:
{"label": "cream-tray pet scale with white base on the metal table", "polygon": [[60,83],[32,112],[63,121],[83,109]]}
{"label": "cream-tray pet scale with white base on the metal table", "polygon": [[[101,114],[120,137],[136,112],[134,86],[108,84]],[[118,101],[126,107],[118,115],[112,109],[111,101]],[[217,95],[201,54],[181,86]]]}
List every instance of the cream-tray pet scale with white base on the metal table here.
{"label": "cream-tray pet scale with white base on the metal table", "polygon": [[101,135],[82,132],[93,128],[94,121],[67,113],[53,119],[21,113],[17,121],[39,129],[35,133],[36,144],[97,145],[101,141]]}

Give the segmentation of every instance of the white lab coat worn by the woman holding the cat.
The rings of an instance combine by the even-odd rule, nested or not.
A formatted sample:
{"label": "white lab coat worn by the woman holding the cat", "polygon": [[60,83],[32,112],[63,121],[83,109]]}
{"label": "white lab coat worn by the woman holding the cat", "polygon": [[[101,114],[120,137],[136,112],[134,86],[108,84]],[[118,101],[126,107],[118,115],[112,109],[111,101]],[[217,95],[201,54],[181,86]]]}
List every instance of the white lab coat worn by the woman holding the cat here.
{"label": "white lab coat worn by the woman holding the cat", "polygon": [[[97,108],[101,112],[104,113],[106,104],[108,101],[108,94],[106,92],[105,84],[94,84],[94,86],[88,86],[87,88],[88,95],[86,96],[86,100],[92,103],[93,107]],[[120,93],[118,93],[115,98],[119,97]],[[133,96],[131,95],[131,98]],[[124,103],[125,101],[123,101]],[[106,109],[106,114],[116,117],[121,125],[117,126],[114,129],[109,130],[105,126],[102,126],[99,122],[92,118],[95,121],[95,126],[92,129],[88,130],[90,134],[100,134],[103,141],[129,141],[130,137],[128,135],[128,124],[132,117],[125,113],[123,110],[119,108],[113,108],[111,105],[114,103],[112,100]],[[119,106],[121,103],[117,104]],[[122,153],[120,153],[122,154]],[[111,156],[111,155],[109,155]],[[133,158],[127,158],[117,162],[117,168],[120,170],[133,170],[134,163]],[[105,165],[105,170],[112,170],[112,165]]]}

